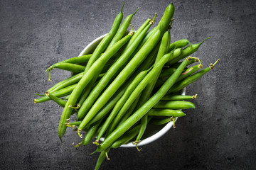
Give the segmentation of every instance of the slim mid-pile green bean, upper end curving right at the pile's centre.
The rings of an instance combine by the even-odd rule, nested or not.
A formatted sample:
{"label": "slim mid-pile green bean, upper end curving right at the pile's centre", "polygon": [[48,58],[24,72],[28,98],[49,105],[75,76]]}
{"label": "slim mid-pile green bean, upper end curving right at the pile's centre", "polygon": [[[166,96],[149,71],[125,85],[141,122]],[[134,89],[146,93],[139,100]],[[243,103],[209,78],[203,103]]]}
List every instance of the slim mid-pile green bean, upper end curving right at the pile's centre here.
{"label": "slim mid-pile green bean, upper end curving right at the pile's centre", "polygon": [[144,72],[141,72],[135,77],[134,81],[132,81],[131,84],[127,87],[127,90],[124,92],[124,95],[122,98],[119,99],[117,104],[114,106],[112,112],[110,113],[109,117],[105,121],[104,125],[102,126],[102,129],[100,130],[99,134],[97,135],[97,140],[100,140],[100,137],[105,133],[107,128],[109,127],[110,123],[112,123],[112,120],[117,115],[118,111],[122,106],[124,105],[125,101],[127,101],[127,98],[129,98],[129,95],[134,91],[134,89],[137,87],[140,81],[146,76],[146,74],[149,72],[149,70],[146,70]]}

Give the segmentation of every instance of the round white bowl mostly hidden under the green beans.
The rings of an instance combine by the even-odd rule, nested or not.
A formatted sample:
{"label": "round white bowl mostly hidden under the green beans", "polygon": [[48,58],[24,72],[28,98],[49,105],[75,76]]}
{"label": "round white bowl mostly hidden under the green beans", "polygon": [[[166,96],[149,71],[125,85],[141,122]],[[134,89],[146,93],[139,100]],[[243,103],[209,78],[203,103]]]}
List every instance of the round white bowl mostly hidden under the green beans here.
{"label": "round white bowl mostly hidden under the green beans", "polygon": [[[106,35],[107,34],[102,35],[99,38],[96,38],[95,40],[90,42],[90,44],[87,45],[84,48],[84,50],[82,50],[82,52],[80,52],[80,55],[91,54],[95,50],[97,45],[100,43],[100,41]],[[185,95],[186,94],[186,89],[183,89],[181,94]],[[177,119],[178,118],[175,119],[175,122],[176,122]],[[158,140],[161,136],[163,136],[166,132],[168,132],[168,130],[170,130],[173,125],[174,125],[174,123],[172,121],[167,123],[166,125],[147,125],[146,131],[144,132],[142,140],[139,142],[139,144],[137,146],[139,147],[139,146],[146,145],[146,144],[149,144],[151,142],[154,142],[155,140]],[[102,137],[100,140],[103,141],[104,137]],[[133,145],[132,142],[129,142],[125,145],[122,145],[121,147],[135,147],[135,145]]]}

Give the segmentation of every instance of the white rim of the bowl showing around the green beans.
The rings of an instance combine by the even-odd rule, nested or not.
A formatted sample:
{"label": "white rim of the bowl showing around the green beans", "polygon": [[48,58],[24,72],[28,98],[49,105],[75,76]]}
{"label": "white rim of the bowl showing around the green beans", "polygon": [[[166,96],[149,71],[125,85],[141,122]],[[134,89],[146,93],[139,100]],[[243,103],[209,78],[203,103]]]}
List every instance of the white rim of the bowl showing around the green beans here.
{"label": "white rim of the bowl showing around the green beans", "polygon": [[[100,43],[100,40],[102,40],[105,36],[107,35],[104,34],[104,35],[101,35],[100,37],[96,38],[95,40],[92,40],[92,42],[90,42],[90,44],[88,44],[83,50],[82,52],[80,52],[80,55],[87,55],[89,52],[90,52],[90,47],[91,46],[95,46],[96,43]],[[186,95],[186,88],[184,88],[182,91],[181,91],[181,95]],[[178,120],[178,118],[175,118],[175,122],[176,120]],[[146,137],[145,139],[143,140],[140,140],[139,141],[139,144],[137,145],[138,147],[140,146],[143,146],[143,145],[147,145],[151,142],[154,142],[155,140],[158,140],[160,137],[162,137],[164,134],[166,134],[166,132],[168,132],[171,127],[173,127],[174,123],[173,121],[170,121],[169,123],[167,123],[164,128],[162,128],[161,130],[159,130],[159,132],[156,132],[154,135],[151,135],[150,137]],[[100,138],[100,141],[103,141],[105,138],[104,137],[101,137]],[[133,145],[132,142],[129,142],[127,144],[124,144],[124,145],[121,145],[120,147],[136,147],[136,145]]]}

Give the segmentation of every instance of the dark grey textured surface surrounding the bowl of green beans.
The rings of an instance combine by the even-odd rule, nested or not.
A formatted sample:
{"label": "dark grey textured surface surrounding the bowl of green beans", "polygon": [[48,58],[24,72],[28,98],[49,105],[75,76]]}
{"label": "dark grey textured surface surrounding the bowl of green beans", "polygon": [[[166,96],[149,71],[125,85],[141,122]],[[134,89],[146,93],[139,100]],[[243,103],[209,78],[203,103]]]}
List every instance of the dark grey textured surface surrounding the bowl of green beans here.
{"label": "dark grey textured surface surrounding the bowl of green beans", "polygon": [[[62,108],[34,104],[70,74],[44,72],[50,64],[77,56],[92,40],[110,30],[122,1],[0,1],[1,118],[0,169],[94,169],[96,147],[75,149],[78,136],[68,129],[58,140]],[[139,11],[137,29],[154,12],[159,19],[170,1],[127,1],[124,16]],[[255,8],[254,1],[174,1],[171,42],[197,43],[194,54],[205,67],[220,62],[188,86],[198,94],[196,109],[164,137],[142,147],[112,149],[102,169],[255,169]]]}

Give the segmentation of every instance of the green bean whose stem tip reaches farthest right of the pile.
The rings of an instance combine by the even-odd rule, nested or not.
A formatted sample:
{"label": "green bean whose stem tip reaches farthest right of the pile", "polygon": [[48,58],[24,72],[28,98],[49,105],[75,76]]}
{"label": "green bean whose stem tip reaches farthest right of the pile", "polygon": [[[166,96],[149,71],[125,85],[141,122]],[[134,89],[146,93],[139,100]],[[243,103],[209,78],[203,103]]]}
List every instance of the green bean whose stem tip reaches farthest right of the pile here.
{"label": "green bean whose stem tip reaches farthest right of the pile", "polygon": [[188,86],[189,84],[193,83],[194,81],[200,79],[204,74],[206,74],[207,72],[210,71],[210,69],[213,69],[213,67],[215,66],[215,64],[217,64],[217,62],[220,59],[218,59],[214,64],[210,64],[209,67],[207,67],[206,69],[201,70],[200,72],[197,72],[196,74],[191,75],[190,77],[187,77],[186,79],[183,79],[183,81],[179,81],[176,84],[174,84],[174,86],[168,91],[167,94],[171,94],[171,93],[176,93],[178,91],[180,91],[181,89],[183,89],[184,87]]}

